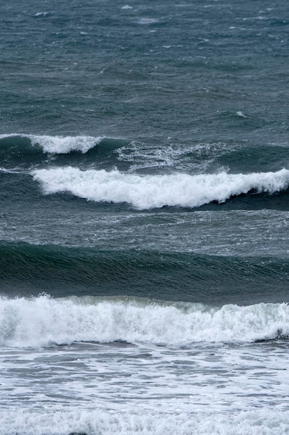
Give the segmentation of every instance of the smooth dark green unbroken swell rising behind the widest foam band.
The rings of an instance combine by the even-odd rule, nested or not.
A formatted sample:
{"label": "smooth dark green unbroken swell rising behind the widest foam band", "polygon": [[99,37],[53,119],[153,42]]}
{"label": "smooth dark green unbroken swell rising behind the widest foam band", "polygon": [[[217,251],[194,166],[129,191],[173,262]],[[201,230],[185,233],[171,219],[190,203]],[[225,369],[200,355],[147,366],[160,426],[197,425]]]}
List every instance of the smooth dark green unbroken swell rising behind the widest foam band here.
{"label": "smooth dark green unbroken swell rising behind the widest foam band", "polygon": [[128,295],[207,304],[286,302],[289,260],[1,242],[2,294]]}

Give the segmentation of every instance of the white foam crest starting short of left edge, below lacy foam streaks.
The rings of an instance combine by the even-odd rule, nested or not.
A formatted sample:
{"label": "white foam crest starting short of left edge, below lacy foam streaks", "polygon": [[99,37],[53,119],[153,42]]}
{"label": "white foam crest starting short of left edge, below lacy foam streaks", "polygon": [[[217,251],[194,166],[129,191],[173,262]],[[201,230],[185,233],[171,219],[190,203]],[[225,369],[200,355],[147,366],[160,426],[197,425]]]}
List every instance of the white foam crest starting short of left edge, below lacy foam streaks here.
{"label": "white foam crest starting short of left edge, below lacy foam streaks", "polygon": [[162,206],[196,207],[256,192],[274,193],[289,186],[289,170],[251,174],[123,174],[117,170],[82,171],[75,167],[35,170],[33,179],[46,194],[71,192],[96,202],[127,202],[139,209]]}

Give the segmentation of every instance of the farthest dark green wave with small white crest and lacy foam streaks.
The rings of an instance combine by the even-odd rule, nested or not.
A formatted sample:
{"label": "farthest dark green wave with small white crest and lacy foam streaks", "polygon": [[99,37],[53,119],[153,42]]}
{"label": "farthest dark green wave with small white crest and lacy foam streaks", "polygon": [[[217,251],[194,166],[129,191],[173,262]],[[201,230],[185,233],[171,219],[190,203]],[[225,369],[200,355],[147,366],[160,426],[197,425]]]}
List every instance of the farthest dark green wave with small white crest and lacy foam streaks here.
{"label": "farthest dark green wave with small white crest and lacy foam streaks", "polygon": [[159,171],[189,174],[267,172],[286,167],[287,144],[239,145],[231,143],[152,143],[106,136],[47,136],[32,134],[0,135],[1,165],[6,169],[35,167],[40,163],[89,166],[128,172]]}

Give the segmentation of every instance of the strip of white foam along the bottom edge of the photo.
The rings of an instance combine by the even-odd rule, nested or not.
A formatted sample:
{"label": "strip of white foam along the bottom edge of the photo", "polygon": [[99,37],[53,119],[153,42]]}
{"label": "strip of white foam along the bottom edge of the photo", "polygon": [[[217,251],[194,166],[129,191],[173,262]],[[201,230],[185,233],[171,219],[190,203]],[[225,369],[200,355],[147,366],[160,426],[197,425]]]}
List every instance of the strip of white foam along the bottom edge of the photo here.
{"label": "strip of white foam along the bottom edge of the photo", "polygon": [[288,411],[214,413],[143,413],[132,411],[5,411],[0,435],[155,434],[155,435],[283,435],[288,434]]}

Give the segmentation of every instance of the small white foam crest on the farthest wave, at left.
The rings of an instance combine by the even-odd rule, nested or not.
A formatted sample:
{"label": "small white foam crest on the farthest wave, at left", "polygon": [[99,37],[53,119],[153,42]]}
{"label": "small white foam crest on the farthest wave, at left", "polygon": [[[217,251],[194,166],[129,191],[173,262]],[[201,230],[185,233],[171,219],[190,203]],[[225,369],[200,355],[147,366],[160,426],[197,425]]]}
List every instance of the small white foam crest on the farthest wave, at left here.
{"label": "small white foam crest on the farthest wave, at left", "polygon": [[81,151],[85,154],[103,139],[93,136],[37,136],[17,133],[0,135],[0,139],[13,137],[28,138],[32,145],[40,145],[44,152],[51,154],[68,154],[71,151]]}

